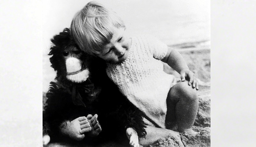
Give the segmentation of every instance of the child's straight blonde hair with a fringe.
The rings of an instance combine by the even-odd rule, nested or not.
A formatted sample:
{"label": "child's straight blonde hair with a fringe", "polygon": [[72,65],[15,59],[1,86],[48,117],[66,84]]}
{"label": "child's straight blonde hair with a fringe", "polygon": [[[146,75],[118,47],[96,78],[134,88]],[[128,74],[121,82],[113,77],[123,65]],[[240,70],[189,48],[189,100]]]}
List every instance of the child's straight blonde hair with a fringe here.
{"label": "child's straight blonde hair with a fringe", "polygon": [[71,22],[71,34],[83,51],[95,55],[110,42],[115,27],[125,28],[123,20],[114,11],[92,1],[76,13]]}

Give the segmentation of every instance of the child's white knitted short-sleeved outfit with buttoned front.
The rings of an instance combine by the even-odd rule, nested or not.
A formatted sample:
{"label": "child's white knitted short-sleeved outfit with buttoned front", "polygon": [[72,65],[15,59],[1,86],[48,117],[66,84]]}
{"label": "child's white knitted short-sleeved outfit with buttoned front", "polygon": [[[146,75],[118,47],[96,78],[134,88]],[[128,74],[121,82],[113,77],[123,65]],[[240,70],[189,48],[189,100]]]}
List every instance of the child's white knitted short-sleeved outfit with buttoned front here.
{"label": "child's white knitted short-sleeved outfit with buttoned front", "polygon": [[133,37],[127,59],[107,64],[108,77],[145,114],[145,122],[165,127],[166,98],[174,76],[163,71],[160,61],[167,46],[152,37]]}

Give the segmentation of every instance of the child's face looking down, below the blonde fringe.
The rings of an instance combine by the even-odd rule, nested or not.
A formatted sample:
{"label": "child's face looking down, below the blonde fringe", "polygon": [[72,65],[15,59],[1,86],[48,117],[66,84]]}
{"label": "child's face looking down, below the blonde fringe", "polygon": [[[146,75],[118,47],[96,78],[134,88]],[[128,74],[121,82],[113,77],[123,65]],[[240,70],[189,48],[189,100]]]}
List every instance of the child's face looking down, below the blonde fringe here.
{"label": "child's face looking down, below the blonde fringe", "polygon": [[106,44],[98,56],[106,62],[123,62],[129,55],[131,39],[126,38],[124,28],[115,28],[110,43]]}

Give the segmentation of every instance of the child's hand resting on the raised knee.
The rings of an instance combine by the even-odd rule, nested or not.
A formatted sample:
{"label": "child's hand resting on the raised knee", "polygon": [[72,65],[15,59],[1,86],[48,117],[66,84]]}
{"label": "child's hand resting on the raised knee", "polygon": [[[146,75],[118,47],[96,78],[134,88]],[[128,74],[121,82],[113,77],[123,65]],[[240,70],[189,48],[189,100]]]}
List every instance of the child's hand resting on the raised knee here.
{"label": "child's hand resting on the raised knee", "polygon": [[188,80],[189,81],[188,85],[190,86],[192,84],[192,88],[196,88],[196,90],[199,89],[197,79],[195,77],[195,74],[192,71],[190,71],[188,69],[181,70],[180,78],[181,78],[182,82],[185,80]]}

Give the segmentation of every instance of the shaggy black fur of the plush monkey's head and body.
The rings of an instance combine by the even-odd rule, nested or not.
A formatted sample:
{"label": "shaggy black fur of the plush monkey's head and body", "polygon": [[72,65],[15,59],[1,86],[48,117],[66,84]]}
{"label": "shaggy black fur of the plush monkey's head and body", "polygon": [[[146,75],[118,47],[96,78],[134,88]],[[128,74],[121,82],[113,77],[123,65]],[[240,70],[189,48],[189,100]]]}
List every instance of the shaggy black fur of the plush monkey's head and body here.
{"label": "shaggy black fur of the plush monkey's head and body", "polygon": [[[142,112],[134,107],[119,92],[117,86],[109,80],[105,72],[105,62],[100,58],[83,53],[81,57],[84,61],[83,66],[89,68],[90,76],[80,84],[70,82],[66,79],[66,66],[62,52],[64,48],[78,47],[70,36],[69,29],[66,28],[54,36],[52,43],[54,45],[50,49],[49,55],[52,55],[50,61],[54,70],[57,71],[57,76],[56,81],[51,82],[46,94],[47,106],[43,112],[45,133],[49,134],[51,142],[65,138],[59,132],[61,122],[71,121],[88,114],[99,115],[98,120],[102,131],[99,136],[93,138],[97,142],[106,139],[124,139],[126,138],[125,130],[128,127],[135,128],[138,136],[144,137],[146,126],[142,120]],[[74,99],[72,99],[74,93],[81,95],[85,106],[74,103]]]}

